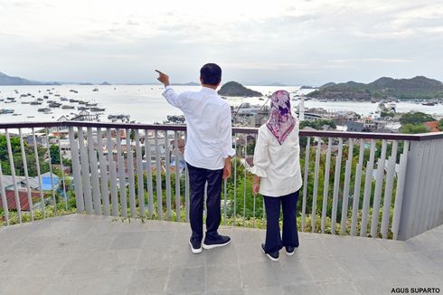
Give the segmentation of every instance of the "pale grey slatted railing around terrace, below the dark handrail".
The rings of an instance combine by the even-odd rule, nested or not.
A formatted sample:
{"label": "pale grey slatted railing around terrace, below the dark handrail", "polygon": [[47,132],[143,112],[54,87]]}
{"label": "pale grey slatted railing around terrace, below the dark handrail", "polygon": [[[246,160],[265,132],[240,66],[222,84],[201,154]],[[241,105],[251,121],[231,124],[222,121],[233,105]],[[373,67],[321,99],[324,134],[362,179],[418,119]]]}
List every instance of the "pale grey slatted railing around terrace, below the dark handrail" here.
{"label": "pale grey slatted railing around terrace, below the dark handrail", "polygon": [[[43,132],[37,133],[40,128]],[[63,156],[61,132],[56,136],[50,132],[61,130],[68,130],[71,144]],[[34,220],[36,213],[44,218],[48,209],[53,214],[69,213],[72,207],[77,213],[188,221],[184,126],[66,121],[0,124],[0,133],[3,131],[6,147],[1,147],[0,190],[5,224],[10,224],[12,217],[16,217],[14,223]],[[33,148],[24,143],[27,134],[36,143]],[[42,144],[36,134],[42,134]],[[256,136],[257,128],[233,129],[232,145],[237,154],[231,179],[223,184],[223,224],[264,226],[262,198],[250,194],[249,164]],[[20,141],[21,161],[12,138]],[[404,240],[443,224],[443,187],[439,181],[443,176],[442,133],[302,130],[300,138],[304,185],[297,208],[299,230]],[[52,175],[51,153],[55,149],[51,145],[60,153],[58,187]],[[29,175],[26,162],[32,150],[34,177]],[[68,187],[63,159],[69,156],[73,186]],[[42,160],[50,172],[50,190],[43,189]],[[5,187],[2,163],[9,164],[12,186]],[[24,190],[17,185],[17,165],[23,166]],[[39,184],[38,199],[32,197],[32,179]],[[8,208],[6,194],[12,190],[14,211]],[[64,197],[66,191],[75,196],[75,204]],[[24,194],[29,205],[26,212],[21,208]],[[63,212],[58,212],[61,209]]]}

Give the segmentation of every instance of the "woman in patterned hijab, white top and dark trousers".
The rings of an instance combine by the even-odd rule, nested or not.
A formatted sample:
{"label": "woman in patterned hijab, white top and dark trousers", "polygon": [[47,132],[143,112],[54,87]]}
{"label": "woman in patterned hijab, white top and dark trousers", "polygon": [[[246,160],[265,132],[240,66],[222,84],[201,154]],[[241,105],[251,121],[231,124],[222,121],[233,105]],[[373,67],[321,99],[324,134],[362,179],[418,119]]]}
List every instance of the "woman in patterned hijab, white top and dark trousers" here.
{"label": "woman in patterned hijab, white top and dark trousers", "polygon": [[[289,93],[274,92],[270,98],[269,120],[259,128],[254,151],[255,174],[252,191],[265,200],[268,217],[266,242],[261,250],[272,261],[278,261],[278,252],[285,247],[287,255],[298,247],[297,198],[302,185],[298,145],[298,122],[291,115]],[[280,237],[278,220],[283,207],[283,234]]]}

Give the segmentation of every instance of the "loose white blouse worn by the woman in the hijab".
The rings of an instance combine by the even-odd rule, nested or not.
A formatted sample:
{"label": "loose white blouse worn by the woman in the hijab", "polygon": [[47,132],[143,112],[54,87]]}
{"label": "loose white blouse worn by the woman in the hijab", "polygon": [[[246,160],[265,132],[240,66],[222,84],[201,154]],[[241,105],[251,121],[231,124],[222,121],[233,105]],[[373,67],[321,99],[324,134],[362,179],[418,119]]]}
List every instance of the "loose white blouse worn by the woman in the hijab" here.
{"label": "loose white blouse worn by the woman in the hijab", "polygon": [[251,172],[260,177],[261,195],[282,196],[300,189],[302,178],[298,122],[282,145],[266,124],[259,128]]}

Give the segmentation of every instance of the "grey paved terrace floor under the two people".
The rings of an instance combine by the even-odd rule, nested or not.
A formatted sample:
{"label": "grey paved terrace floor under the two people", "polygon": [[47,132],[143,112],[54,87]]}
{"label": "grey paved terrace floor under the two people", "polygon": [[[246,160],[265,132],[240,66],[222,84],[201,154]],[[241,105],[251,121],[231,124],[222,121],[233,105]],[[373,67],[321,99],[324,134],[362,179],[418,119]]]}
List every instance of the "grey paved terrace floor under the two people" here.
{"label": "grey paved terrace floor under the two people", "polygon": [[1,294],[391,294],[443,292],[443,226],[408,242],[300,233],[271,262],[263,230],[222,228],[232,243],[189,250],[188,224],[72,214],[0,229]]}

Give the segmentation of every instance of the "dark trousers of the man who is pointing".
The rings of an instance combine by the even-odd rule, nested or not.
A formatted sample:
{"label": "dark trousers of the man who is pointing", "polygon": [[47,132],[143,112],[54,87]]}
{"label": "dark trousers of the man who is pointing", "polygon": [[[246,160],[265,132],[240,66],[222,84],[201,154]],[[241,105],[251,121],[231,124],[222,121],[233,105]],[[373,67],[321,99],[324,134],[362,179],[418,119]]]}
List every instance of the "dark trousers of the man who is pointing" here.
{"label": "dark trousers of the man who is pointing", "polygon": [[218,237],[217,230],[221,222],[221,182],[223,169],[210,170],[193,167],[186,163],[189,172],[189,183],[191,186],[191,206],[189,208],[189,219],[193,234],[193,242],[201,243],[203,240],[203,202],[204,185],[208,182],[206,199],[206,237],[214,240]]}

